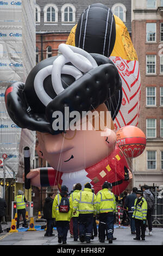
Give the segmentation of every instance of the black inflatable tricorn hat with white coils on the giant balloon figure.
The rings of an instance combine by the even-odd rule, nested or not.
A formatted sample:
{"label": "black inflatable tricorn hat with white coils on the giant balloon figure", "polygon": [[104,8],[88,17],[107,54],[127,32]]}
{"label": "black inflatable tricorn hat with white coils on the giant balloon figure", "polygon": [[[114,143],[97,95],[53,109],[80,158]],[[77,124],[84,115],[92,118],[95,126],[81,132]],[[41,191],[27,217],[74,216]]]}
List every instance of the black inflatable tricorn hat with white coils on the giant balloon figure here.
{"label": "black inflatable tricorn hat with white coils on the giant balloon figure", "polygon": [[[77,51],[77,47],[68,47],[72,50],[75,48]],[[80,49],[80,51],[83,50]],[[27,128],[32,131],[48,132],[55,135],[65,129],[53,130],[52,124],[55,120],[52,117],[53,112],[61,111],[64,116],[65,107],[69,107],[70,113],[72,111],[82,113],[82,111],[96,109],[104,102],[108,103],[106,106],[114,105],[115,102],[111,112],[114,119],[122,102],[120,75],[115,65],[107,57],[100,54],[89,55],[96,63],[96,67],[87,72],[77,70],[72,63],[67,62],[65,64],[65,69],[70,69],[71,66],[76,69],[77,74],[80,73],[81,75],[74,78],[72,74],[66,74],[63,71],[63,74],[60,74],[62,92],[59,94],[54,90],[56,84],[52,77],[52,71],[53,69],[54,71],[57,70],[55,61],[58,62],[60,56],[42,60],[37,64],[30,71],[25,84],[16,82],[9,86],[5,92],[5,104],[12,121],[23,129]],[[39,96],[40,91],[38,93],[36,89],[43,91],[42,99]],[[47,103],[43,102],[45,100],[44,95],[49,100]]]}

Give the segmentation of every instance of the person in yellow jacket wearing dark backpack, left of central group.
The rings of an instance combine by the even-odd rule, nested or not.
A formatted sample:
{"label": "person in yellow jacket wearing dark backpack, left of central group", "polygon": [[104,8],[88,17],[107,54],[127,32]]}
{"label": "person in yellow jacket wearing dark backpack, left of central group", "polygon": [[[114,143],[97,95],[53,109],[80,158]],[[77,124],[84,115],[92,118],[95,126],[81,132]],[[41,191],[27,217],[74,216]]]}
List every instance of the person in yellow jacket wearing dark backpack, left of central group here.
{"label": "person in yellow jacket wearing dark backpack, left of central group", "polygon": [[68,199],[68,188],[61,186],[61,192],[55,196],[52,206],[52,218],[55,218],[59,243],[67,243],[67,233],[71,216],[72,198]]}

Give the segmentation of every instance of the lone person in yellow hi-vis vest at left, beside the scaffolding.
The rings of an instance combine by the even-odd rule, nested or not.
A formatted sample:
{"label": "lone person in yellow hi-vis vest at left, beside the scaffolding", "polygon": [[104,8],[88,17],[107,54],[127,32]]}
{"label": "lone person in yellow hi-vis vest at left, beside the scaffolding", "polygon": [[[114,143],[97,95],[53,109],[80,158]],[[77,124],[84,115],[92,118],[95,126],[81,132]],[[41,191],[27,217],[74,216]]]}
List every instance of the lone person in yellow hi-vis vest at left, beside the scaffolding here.
{"label": "lone person in yellow hi-vis vest at left, beside the scaffolding", "polygon": [[17,196],[15,197],[15,202],[16,202],[16,209],[17,209],[16,228],[19,228],[21,214],[23,217],[24,228],[27,228],[27,221],[26,221],[26,202],[27,202],[27,200],[23,195],[23,191],[21,191],[21,190],[17,191]]}

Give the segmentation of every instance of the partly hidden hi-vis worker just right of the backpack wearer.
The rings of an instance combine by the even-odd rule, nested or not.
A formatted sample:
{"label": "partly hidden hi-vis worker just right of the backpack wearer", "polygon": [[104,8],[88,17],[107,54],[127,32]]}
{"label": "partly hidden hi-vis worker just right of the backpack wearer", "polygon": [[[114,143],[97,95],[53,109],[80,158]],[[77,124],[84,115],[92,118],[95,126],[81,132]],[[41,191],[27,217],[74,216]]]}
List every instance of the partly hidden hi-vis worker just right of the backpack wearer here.
{"label": "partly hidden hi-vis worker just right of the backpack wearer", "polygon": [[[74,187],[74,191],[71,193],[70,197],[72,198],[72,201],[74,201],[78,193],[82,191],[82,185],[80,183],[77,183]],[[73,221],[73,240],[78,241],[78,221],[79,221],[79,211],[77,209],[76,214],[72,214],[72,221]]]}

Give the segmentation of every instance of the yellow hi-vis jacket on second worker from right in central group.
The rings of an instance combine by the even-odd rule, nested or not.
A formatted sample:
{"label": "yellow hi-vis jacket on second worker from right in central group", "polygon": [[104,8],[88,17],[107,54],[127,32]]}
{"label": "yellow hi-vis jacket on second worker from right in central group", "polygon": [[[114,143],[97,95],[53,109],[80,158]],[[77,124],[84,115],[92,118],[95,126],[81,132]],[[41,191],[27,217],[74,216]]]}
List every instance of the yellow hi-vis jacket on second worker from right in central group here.
{"label": "yellow hi-vis jacket on second worker from right in central group", "polygon": [[91,188],[84,188],[79,192],[73,201],[73,211],[79,210],[79,214],[96,215],[96,194],[92,193]]}

